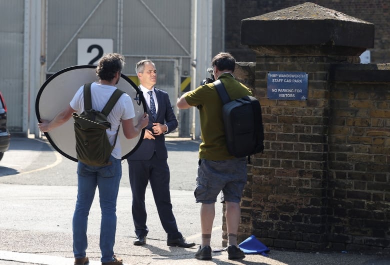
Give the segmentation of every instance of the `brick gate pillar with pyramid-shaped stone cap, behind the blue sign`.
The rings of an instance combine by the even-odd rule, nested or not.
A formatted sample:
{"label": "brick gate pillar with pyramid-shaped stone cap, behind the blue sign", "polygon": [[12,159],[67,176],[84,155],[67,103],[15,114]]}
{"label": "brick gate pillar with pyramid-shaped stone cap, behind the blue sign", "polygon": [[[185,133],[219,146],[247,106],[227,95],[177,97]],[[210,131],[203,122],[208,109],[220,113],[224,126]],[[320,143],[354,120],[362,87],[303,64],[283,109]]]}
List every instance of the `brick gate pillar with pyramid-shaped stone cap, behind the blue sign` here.
{"label": "brick gate pillar with pyramid-shaped stone cap, behind the blue sign", "polygon": [[[241,44],[256,53],[265,151],[253,157],[239,241],[254,234],[267,246],[327,247],[329,71],[359,63],[373,33],[370,23],[312,3],[241,22]],[[268,99],[270,71],[307,73],[307,99]]]}

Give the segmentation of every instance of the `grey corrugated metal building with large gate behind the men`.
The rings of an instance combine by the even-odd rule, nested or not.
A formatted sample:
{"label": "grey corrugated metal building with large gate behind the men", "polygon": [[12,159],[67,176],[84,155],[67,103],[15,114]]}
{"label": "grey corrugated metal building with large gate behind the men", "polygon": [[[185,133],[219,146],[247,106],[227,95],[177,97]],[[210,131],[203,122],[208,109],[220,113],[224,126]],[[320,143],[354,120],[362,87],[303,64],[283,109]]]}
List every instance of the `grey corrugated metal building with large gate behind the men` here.
{"label": "grey corrugated metal building with large gate behind the men", "polygon": [[[223,50],[223,3],[2,0],[0,90],[10,132],[39,136],[34,104],[45,79],[70,66],[96,64],[109,52],[125,56],[123,74],[136,84],[135,63],[151,59],[158,71],[156,86],[175,106],[183,91],[207,77],[212,55]],[[195,112],[175,111],[179,135],[199,136]]]}

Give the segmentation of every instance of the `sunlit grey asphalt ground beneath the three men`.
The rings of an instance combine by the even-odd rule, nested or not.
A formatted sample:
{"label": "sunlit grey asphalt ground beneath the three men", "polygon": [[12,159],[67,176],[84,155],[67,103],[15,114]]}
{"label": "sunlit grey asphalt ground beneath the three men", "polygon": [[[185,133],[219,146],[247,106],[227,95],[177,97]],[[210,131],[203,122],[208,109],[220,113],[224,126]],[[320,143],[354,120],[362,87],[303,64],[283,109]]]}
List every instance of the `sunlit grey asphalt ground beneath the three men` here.
{"label": "sunlit grey asphalt ground beneath the three men", "polygon": [[[150,189],[146,192],[146,245],[134,246],[131,191],[127,163],[117,200],[117,231],[114,251],[124,264],[260,264],[260,265],[389,265],[390,257],[349,252],[297,252],[270,248],[269,256],[246,255],[228,260],[225,251],[213,252],[209,261],[194,258],[200,243],[199,208],[192,187],[198,142],[167,139],[171,169],[171,200],[180,231],[193,248],[166,245]],[[71,218],[75,205],[76,163],[63,158],[45,140],[13,138],[0,161],[0,265],[72,264]],[[88,221],[87,255],[90,264],[100,264],[98,246],[100,209],[98,192]],[[222,208],[216,203],[211,238],[213,250],[222,248]]]}

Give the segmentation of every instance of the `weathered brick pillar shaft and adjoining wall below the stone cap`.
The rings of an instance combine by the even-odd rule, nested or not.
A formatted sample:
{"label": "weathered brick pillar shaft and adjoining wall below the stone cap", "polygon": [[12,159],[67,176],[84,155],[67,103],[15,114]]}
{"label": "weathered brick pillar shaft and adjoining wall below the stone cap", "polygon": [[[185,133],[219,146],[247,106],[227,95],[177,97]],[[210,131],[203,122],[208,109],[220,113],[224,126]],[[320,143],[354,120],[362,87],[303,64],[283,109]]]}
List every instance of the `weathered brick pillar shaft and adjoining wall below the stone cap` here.
{"label": "weathered brick pillar shaft and adjoining wall below the stone cap", "polygon": [[[256,57],[238,80],[260,100],[265,151],[252,157],[238,240],[390,253],[390,65],[357,57]],[[344,63],[339,63],[344,62]],[[308,100],[266,98],[268,71],[308,73]],[[226,244],[226,227],[222,244]]]}

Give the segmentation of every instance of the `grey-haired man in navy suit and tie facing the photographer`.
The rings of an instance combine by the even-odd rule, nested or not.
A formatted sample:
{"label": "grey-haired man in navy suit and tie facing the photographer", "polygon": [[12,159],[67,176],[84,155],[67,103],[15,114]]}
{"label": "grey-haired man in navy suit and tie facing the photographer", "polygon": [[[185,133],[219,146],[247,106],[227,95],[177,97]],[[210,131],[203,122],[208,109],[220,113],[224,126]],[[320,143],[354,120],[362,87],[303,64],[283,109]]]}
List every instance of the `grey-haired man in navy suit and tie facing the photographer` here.
{"label": "grey-haired man in navy suit and tie facing the photographer", "polygon": [[149,123],[139,148],[127,158],[128,174],[132,191],[132,219],[136,238],[134,245],[144,245],[148,228],[146,226],[145,190],[147,183],[153,193],[158,216],[167,233],[169,246],[191,247],[178,231],[172,212],[169,192],[168,155],[164,134],[176,129],[177,120],[170,104],[168,93],[154,87],[157,71],[150,60],[139,61],[135,71],[140,82],[149,114]]}

